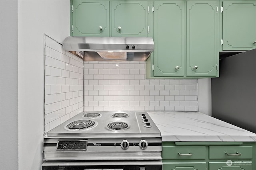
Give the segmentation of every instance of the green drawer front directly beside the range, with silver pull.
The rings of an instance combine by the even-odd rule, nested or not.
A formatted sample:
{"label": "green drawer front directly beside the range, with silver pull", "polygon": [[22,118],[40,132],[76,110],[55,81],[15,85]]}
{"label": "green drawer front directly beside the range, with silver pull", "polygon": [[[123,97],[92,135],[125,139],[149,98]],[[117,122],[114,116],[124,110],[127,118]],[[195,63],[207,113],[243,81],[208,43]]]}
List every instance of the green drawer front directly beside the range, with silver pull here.
{"label": "green drawer front directly beside the range, with silver pull", "polygon": [[163,159],[205,159],[206,147],[163,146]]}

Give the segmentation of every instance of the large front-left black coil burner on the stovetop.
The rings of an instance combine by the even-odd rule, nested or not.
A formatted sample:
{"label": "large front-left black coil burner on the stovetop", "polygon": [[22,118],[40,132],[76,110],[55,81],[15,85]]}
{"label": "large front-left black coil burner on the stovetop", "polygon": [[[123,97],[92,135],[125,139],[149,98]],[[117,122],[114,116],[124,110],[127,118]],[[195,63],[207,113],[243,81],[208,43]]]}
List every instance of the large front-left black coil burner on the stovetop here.
{"label": "large front-left black coil burner on the stovetop", "polygon": [[69,123],[66,127],[69,130],[82,130],[82,129],[90,129],[95,125],[96,125],[96,122],[92,120],[77,120]]}

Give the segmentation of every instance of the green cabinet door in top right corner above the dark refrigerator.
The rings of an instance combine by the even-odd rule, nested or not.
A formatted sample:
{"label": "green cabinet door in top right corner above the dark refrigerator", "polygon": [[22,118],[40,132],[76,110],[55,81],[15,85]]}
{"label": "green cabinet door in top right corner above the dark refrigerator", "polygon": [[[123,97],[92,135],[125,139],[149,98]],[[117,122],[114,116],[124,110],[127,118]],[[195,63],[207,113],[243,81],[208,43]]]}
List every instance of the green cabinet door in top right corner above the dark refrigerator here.
{"label": "green cabinet door in top right corner above the dark refrigerator", "polygon": [[223,2],[222,50],[256,48],[256,1]]}

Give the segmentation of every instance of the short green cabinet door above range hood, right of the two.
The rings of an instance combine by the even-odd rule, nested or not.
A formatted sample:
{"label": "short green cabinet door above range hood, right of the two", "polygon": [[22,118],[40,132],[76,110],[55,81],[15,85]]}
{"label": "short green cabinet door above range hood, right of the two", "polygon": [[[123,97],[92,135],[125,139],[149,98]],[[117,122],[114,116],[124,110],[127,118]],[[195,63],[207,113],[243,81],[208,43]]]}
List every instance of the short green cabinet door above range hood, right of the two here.
{"label": "short green cabinet door above range hood, right of the two", "polygon": [[148,37],[148,1],[112,1],[113,37]]}

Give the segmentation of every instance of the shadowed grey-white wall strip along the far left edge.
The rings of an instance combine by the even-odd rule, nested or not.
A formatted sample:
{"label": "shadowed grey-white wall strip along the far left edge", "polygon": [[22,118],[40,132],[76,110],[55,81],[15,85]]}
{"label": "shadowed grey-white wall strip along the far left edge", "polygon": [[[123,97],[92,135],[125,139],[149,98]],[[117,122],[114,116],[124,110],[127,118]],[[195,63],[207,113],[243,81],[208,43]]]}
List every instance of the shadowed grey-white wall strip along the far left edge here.
{"label": "shadowed grey-white wall strip along the far left edge", "polygon": [[17,0],[0,0],[0,169],[18,169]]}

